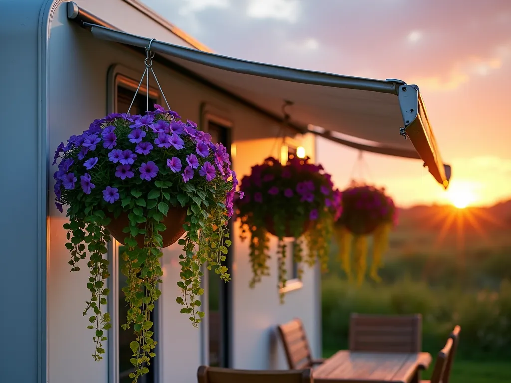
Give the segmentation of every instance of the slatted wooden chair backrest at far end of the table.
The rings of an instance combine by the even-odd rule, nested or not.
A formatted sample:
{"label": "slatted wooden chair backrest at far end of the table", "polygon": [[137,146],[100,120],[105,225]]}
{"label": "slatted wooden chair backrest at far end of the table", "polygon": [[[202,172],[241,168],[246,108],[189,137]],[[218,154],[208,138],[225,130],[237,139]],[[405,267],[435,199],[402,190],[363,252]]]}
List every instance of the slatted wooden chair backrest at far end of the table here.
{"label": "slatted wooden chair backrest at far end of the table", "polygon": [[350,350],[420,352],[422,316],[363,315],[350,318]]}

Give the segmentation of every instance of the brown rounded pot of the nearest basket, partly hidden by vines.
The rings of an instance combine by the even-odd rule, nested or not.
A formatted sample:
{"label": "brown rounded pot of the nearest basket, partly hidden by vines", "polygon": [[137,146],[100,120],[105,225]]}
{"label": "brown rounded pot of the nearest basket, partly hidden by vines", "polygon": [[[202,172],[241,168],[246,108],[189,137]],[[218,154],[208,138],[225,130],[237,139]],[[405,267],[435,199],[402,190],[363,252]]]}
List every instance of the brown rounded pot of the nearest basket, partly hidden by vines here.
{"label": "brown rounded pot of the nearest basket, partly hidden by vines", "polygon": [[[165,231],[161,231],[159,234],[162,237],[163,247],[169,247],[179,240],[184,234],[183,224],[187,218],[187,207],[170,207],[167,217],[164,217],[161,221],[162,224],[167,228]],[[129,233],[124,233],[123,229],[129,226],[128,213],[122,212],[121,215],[114,219],[110,225],[107,226],[110,234],[115,238],[116,241],[124,245],[124,240],[129,236]],[[144,224],[138,225],[140,228],[144,227]],[[135,237],[138,247],[144,247],[144,235],[138,234]]]}

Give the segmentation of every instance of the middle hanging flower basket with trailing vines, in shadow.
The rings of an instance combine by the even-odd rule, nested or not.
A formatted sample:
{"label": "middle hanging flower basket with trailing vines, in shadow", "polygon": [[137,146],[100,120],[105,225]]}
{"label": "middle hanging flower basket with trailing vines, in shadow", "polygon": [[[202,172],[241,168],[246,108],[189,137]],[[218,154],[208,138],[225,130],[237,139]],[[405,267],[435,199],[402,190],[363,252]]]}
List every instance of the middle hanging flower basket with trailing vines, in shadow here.
{"label": "middle hanging flower basket with trailing vines, in shadow", "polygon": [[[293,258],[299,265],[298,278],[303,274],[304,242],[301,236],[304,233],[309,249],[306,263],[313,266],[317,260],[323,270],[326,268],[333,224],[341,213],[341,197],[321,165],[309,163],[308,158],[293,156],[283,165],[270,157],[263,164],[252,166],[251,174],[242,178],[240,189],[245,198],[237,202],[237,215],[241,239],[250,234],[251,288],[263,276],[269,275],[270,233],[278,238],[279,288],[284,288],[287,281],[286,237],[295,238]],[[281,290],[283,301],[284,290]]]}

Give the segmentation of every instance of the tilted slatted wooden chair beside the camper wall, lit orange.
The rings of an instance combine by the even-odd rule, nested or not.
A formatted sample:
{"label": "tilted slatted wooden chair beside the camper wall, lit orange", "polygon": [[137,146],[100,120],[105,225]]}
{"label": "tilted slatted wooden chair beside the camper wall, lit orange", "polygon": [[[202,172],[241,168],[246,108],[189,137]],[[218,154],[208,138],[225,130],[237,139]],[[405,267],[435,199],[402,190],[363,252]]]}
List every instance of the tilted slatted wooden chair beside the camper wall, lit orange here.
{"label": "tilted slatted wooden chair beside the camper wall, lit orange", "polygon": [[278,326],[278,332],[281,335],[286,358],[291,370],[299,370],[308,367],[314,367],[324,362],[323,358],[312,357],[307,334],[304,324],[298,318]]}

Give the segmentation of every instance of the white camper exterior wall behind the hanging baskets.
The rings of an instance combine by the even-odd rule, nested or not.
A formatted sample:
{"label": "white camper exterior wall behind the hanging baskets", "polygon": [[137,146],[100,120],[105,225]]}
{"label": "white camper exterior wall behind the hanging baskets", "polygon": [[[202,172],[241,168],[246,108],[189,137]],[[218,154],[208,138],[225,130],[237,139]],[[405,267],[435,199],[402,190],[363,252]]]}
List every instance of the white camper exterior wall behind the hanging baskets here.
{"label": "white camper exterior wall behind the hanging baskets", "polygon": [[[25,2],[24,2],[25,3]],[[41,2],[34,1],[37,7],[32,10],[23,8],[24,19],[20,19],[17,9],[17,1],[7,2],[16,9],[9,19],[11,23],[4,24],[0,31],[2,37],[11,34],[5,28],[13,28],[16,37],[4,41],[9,56],[13,55],[18,60],[0,60],[0,73],[18,74],[18,76],[5,76],[4,84],[9,94],[4,93],[3,98],[9,97],[14,100],[11,110],[15,105],[24,108],[24,126],[22,133],[16,133],[14,129],[5,130],[4,137],[13,148],[19,139],[23,139],[23,156],[16,157],[16,166],[19,166],[22,176],[15,172],[9,172],[3,177],[2,194],[2,261],[6,270],[22,270],[27,282],[19,284],[19,273],[5,273],[0,282],[2,291],[13,291],[13,286],[19,291],[10,299],[7,315],[2,315],[2,324],[5,329],[4,341],[12,344],[14,348],[3,348],[3,360],[9,366],[15,368],[7,372],[6,381],[37,381],[38,371],[44,371],[44,367],[38,366],[38,360],[44,361],[44,357],[37,355],[37,343],[44,339],[43,328],[39,329],[38,302],[44,302],[44,291],[38,291],[40,281],[37,275],[37,251],[39,242],[44,241],[45,234],[41,232],[40,217],[38,214],[45,212],[45,208],[38,203],[39,183],[38,176],[48,170],[47,190],[49,193],[48,209],[48,256],[47,256],[47,368],[48,381],[50,383],[85,383],[95,381],[98,383],[109,382],[108,358],[96,363],[92,360],[92,331],[86,329],[88,325],[86,317],[81,313],[84,302],[87,300],[86,289],[87,270],[85,262],[81,265],[82,270],[78,273],[70,273],[67,261],[69,254],[64,246],[65,230],[62,228],[66,222],[65,214],[60,214],[53,204],[53,173],[56,166],[50,165],[53,160],[53,149],[60,141],[65,141],[71,134],[80,133],[87,129],[89,123],[95,118],[107,113],[107,72],[111,65],[122,64],[134,70],[143,69],[143,58],[137,56],[125,47],[113,43],[107,43],[94,39],[88,32],[69,22],[67,19],[66,4],[56,2],[52,9],[49,2],[45,2],[46,8],[52,9],[49,16],[50,35],[48,43],[48,97],[45,100],[48,105],[48,126],[45,121],[41,127],[48,131],[48,148],[45,161],[38,160],[38,142],[40,134],[37,130],[37,118],[41,118],[43,112],[38,111],[40,100],[35,97],[37,84],[37,33],[34,23],[37,22]],[[138,13],[134,8],[121,0],[83,0],[77,1],[80,7],[95,14],[117,28],[126,32],[155,37],[172,43],[188,46],[179,40],[174,34],[157,25],[148,17]],[[30,13],[30,11],[32,13]],[[4,13],[5,15],[7,13]],[[4,17],[3,17],[4,18]],[[44,17],[42,18],[44,20]],[[29,23],[30,28],[15,28],[14,24]],[[19,23],[19,24],[17,24]],[[12,24],[12,25],[11,25]],[[5,28],[3,28],[6,26]],[[45,28],[41,25],[41,28]],[[18,34],[16,34],[18,33]],[[19,41],[17,40],[19,37]],[[29,47],[25,50],[17,50],[16,43]],[[33,46],[31,46],[32,44]],[[42,42],[44,49],[44,41]],[[17,52],[17,53],[16,53]],[[25,65],[25,66],[22,66]],[[279,126],[271,119],[258,112],[242,106],[238,102],[220,95],[188,78],[172,73],[166,68],[155,65],[158,79],[171,107],[177,110],[184,118],[199,121],[200,105],[205,103],[222,111],[223,117],[227,117],[233,123],[233,142],[236,145],[236,156],[233,158],[234,169],[239,178],[248,173],[249,167],[261,162],[270,154],[274,139]],[[44,73],[44,71],[42,72]],[[20,88],[16,81],[23,76],[25,86]],[[19,93],[19,94],[18,94]],[[9,102],[9,99],[6,100]],[[6,105],[4,103],[4,105]],[[44,105],[44,103],[42,103]],[[6,114],[7,121],[12,125],[19,125],[19,117],[14,118]],[[12,119],[12,121],[11,121]],[[5,121],[5,120],[4,120]],[[16,125],[16,126],[17,126]],[[23,134],[25,133],[26,134]],[[43,140],[44,141],[44,140]],[[314,154],[314,140],[306,137],[302,144],[308,154]],[[20,153],[21,149],[16,149]],[[8,151],[0,151],[6,154]],[[278,155],[278,153],[273,153]],[[22,157],[22,158],[21,158]],[[51,158],[51,159],[49,159]],[[3,158],[4,163],[13,161],[12,157]],[[49,166],[49,167],[47,167]],[[4,187],[4,181],[6,187]],[[44,188],[44,180],[42,180]],[[15,201],[22,200],[22,204]],[[8,220],[5,220],[9,218]],[[248,264],[248,249],[246,244],[238,240],[238,225],[235,223],[233,232],[233,256],[234,265],[231,270],[233,289],[233,367],[235,368],[287,368],[283,347],[275,338],[275,325],[286,322],[293,317],[303,319],[308,332],[313,352],[320,353],[319,315],[317,310],[318,299],[318,274],[317,270],[307,270],[304,275],[304,287],[290,292],[286,303],[281,305],[276,288],[276,260],[272,260],[271,277],[267,277],[255,289],[248,288],[250,267]],[[21,229],[22,228],[22,229]],[[23,235],[21,235],[21,232]],[[41,240],[42,234],[42,240]],[[38,237],[39,236],[39,237]],[[275,254],[275,242],[272,242],[272,252]],[[204,343],[201,337],[205,331],[194,329],[186,315],[179,313],[179,305],[175,303],[175,297],[179,295],[176,281],[178,280],[179,266],[177,256],[179,247],[177,244],[164,250],[162,265],[164,267],[164,283],[162,284],[162,296],[160,298],[159,332],[159,357],[160,357],[160,382],[192,383],[196,381],[197,367],[203,363]],[[42,268],[41,270],[44,270]],[[21,289],[21,290],[19,290]],[[14,294],[14,293],[13,293]],[[40,296],[39,296],[39,295]],[[42,296],[42,297],[41,297]],[[12,320],[16,323],[16,329],[12,326],[12,320],[4,323],[8,315],[16,313]],[[44,345],[41,347],[44,350]],[[107,349],[107,352],[111,350]],[[43,352],[44,353],[44,352]],[[6,355],[4,355],[6,354]],[[19,359],[17,359],[19,357]],[[12,373],[12,374],[11,374]],[[11,375],[9,375],[11,374]],[[44,377],[41,382],[45,381]],[[114,382],[109,382],[114,383]]]}

